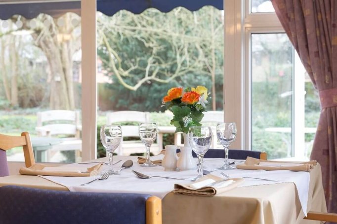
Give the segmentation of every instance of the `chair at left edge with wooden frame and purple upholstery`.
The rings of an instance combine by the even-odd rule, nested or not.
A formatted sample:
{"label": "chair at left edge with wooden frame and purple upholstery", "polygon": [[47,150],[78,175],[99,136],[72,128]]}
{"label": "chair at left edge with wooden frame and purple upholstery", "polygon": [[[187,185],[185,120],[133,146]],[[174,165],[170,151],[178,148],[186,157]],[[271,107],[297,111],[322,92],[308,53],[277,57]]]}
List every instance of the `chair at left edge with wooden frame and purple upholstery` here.
{"label": "chair at left edge with wooden frame and purple upholstery", "polygon": [[18,146],[22,146],[23,148],[26,167],[35,164],[31,138],[28,132],[22,132],[21,136],[0,134],[0,177],[9,175],[6,150]]}

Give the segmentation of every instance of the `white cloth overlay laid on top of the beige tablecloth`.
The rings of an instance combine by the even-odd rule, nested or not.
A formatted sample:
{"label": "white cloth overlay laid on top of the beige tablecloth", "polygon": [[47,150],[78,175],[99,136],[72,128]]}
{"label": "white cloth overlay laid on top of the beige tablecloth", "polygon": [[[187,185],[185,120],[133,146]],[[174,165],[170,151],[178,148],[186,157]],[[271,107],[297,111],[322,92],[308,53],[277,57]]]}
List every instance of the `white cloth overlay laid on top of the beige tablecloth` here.
{"label": "white cloth overlay laid on top of the beige tablecloth", "polygon": [[[81,184],[89,182],[97,178],[93,177],[55,177],[55,176],[41,176],[47,180],[55,182],[57,184],[67,187],[73,192],[132,192],[132,193],[147,193],[156,195],[163,198],[167,193],[173,190],[175,183],[187,184],[191,183],[191,179],[197,175],[197,170],[187,170],[187,171],[164,171],[164,167],[142,167],[137,163],[136,157],[115,157],[114,160],[126,159],[133,160],[133,166],[128,169],[122,170],[120,175],[110,176],[108,180],[105,181],[95,181],[89,185],[81,186]],[[105,160],[106,161],[106,160]],[[205,159],[204,168],[207,170],[212,170],[223,164],[223,159]],[[70,164],[67,166],[79,166],[88,167],[92,164]],[[122,162],[114,165],[115,169],[120,168]],[[104,165],[103,172],[108,170],[109,166]],[[151,178],[151,179],[140,179],[136,177],[131,170],[136,170],[144,173],[148,176],[167,176],[176,178],[186,178],[186,180],[168,180],[164,178]],[[213,175],[223,177],[220,173],[223,170],[217,170],[212,172]],[[307,200],[308,200],[308,190],[309,190],[309,173],[308,172],[293,172],[289,170],[277,170],[277,171],[264,171],[264,170],[225,170],[227,175],[233,178],[237,177],[259,177],[264,179],[278,180],[278,182],[268,182],[261,180],[254,180],[245,178],[243,185],[241,187],[255,186],[255,185],[267,185],[267,184],[278,184],[293,182],[296,186],[298,197],[302,206],[304,214],[307,213]],[[223,177],[224,178],[224,177]]]}

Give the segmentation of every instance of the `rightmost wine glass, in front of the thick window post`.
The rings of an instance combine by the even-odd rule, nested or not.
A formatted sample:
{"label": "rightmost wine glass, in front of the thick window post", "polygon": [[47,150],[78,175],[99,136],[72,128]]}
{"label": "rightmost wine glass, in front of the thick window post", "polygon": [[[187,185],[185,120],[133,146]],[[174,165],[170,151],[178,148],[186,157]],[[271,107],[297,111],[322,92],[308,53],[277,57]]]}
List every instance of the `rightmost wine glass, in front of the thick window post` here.
{"label": "rightmost wine glass, in front of the thick window post", "polygon": [[216,136],[225,149],[225,164],[218,169],[235,169],[235,167],[231,166],[228,162],[228,147],[236,137],[235,123],[218,123],[216,125]]}

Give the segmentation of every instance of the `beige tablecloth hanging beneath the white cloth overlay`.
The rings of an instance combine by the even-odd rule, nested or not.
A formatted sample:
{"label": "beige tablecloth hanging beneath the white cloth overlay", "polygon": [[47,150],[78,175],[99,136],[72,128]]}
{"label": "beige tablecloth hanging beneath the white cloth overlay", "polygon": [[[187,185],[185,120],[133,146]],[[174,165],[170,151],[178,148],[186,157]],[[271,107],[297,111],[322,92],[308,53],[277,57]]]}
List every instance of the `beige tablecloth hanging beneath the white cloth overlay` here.
{"label": "beige tablecloth hanging beneath the white cloth overlay", "polygon": [[[120,159],[135,160],[134,157],[126,156],[117,156],[115,158],[115,160]],[[107,159],[101,158],[98,160],[106,161]],[[139,165],[134,164],[134,166]],[[39,176],[12,175],[1,177],[0,186],[5,185],[68,191],[68,188]],[[304,213],[301,209],[295,185],[290,182],[239,187],[211,197],[187,196],[169,192],[163,198],[162,203],[164,224],[315,223],[314,221],[303,220]],[[310,210],[326,212],[321,167],[319,164],[310,172],[307,211]]]}

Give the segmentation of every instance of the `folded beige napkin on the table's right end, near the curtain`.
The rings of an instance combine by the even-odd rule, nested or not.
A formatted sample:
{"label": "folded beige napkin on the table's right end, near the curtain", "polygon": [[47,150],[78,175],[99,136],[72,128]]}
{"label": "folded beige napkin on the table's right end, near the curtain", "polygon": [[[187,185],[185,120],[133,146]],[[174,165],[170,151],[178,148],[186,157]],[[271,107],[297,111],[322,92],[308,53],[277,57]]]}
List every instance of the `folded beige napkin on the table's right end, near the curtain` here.
{"label": "folded beige napkin on the table's right end, near the curtain", "polygon": [[293,161],[274,161],[274,160],[259,160],[252,157],[247,157],[244,164],[236,165],[238,169],[263,169],[263,170],[292,170],[310,172],[317,164],[316,160],[308,162],[293,162]]}

